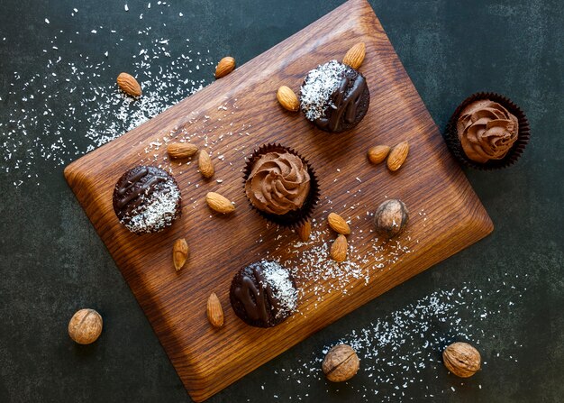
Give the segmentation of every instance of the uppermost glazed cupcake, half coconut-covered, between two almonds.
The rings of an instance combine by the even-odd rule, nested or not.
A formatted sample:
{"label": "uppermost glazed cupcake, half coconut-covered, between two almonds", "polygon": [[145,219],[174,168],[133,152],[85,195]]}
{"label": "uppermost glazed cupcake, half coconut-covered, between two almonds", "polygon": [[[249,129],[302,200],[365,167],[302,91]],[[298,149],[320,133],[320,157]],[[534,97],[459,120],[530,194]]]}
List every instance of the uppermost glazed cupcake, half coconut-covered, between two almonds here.
{"label": "uppermost glazed cupcake, half coconut-covered, between two almonds", "polygon": [[300,88],[300,108],[317,127],[332,133],[352,129],[368,112],[370,92],[359,71],[337,60],[311,70]]}

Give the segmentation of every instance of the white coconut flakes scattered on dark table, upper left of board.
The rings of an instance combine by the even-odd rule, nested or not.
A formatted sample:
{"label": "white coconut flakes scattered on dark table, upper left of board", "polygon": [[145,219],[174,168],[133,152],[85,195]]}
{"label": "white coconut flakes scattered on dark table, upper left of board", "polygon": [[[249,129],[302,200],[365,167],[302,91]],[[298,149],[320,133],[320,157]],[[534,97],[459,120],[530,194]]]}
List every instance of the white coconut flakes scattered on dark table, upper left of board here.
{"label": "white coconut flakes scattered on dark table, upper left of board", "polygon": [[[115,50],[63,59],[59,49],[74,46],[94,32],[102,41],[111,38]],[[191,78],[196,66],[214,66],[205,56],[209,50],[193,49],[186,40],[184,47],[175,44],[173,51],[169,40],[157,36],[150,26],[133,33],[104,26],[85,27],[59,38],[60,33],[53,31],[41,39],[44,51],[36,55],[40,71],[27,77],[14,72],[5,93],[0,93],[5,116],[0,121],[0,170],[10,175],[14,186],[39,179],[40,161],[54,167],[66,165],[177,104],[205,86],[205,79]],[[122,49],[123,39],[132,36],[139,37],[138,49]],[[114,70],[112,56],[118,55],[120,60],[131,59],[129,72],[143,89],[139,100],[124,95],[115,78],[108,80],[102,74]],[[61,103],[66,105],[65,114],[56,113]]]}

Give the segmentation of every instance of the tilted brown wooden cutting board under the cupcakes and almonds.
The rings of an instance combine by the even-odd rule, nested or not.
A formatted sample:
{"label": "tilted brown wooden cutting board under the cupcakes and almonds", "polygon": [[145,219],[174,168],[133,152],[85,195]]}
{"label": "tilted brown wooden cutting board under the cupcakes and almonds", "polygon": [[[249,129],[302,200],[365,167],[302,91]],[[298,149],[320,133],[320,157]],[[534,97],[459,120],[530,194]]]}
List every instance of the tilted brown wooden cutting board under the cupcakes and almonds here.
{"label": "tilted brown wooden cutting board under the cupcakes and almonds", "polygon": [[[297,92],[308,70],[341,60],[359,41],[367,45],[360,71],[371,100],[355,130],[323,133],[302,114],[280,108],[277,87]],[[167,160],[166,142],[183,138],[212,154],[213,179],[202,179],[196,161]],[[396,173],[385,164],[368,163],[369,146],[404,140],[411,151]],[[299,243],[292,231],[268,226],[244,196],[244,159],[266,142],[295,148],[317,172],[322,197],[309,243]],[[118,223],[112,192],[125,170],[149,163],[175,175],[183,216],[165,232],[137,236]],[[196,401],[493,231],[364,0],[341,5],[229,76],[73,162],[65,176]],[[208,191],[232,199],[236,213],[211,212],[205,205]],[[384,243],[372,232],[370,214],[387,197],[405,201],[411,222],[405,234]],[[342,264],[327,257],[335,237],[326,224],[331,211],[350,220],[352,228],[350,259]],[[186,238],[191,254],[186,268],[176,272],[171,248],[178,237]],[[301,289],[299,312],[270,329],[243,324],[229,303],[233,274],[262,258],[294,270]],[[220,330],[205,316],[212,292],[225,312]]]}

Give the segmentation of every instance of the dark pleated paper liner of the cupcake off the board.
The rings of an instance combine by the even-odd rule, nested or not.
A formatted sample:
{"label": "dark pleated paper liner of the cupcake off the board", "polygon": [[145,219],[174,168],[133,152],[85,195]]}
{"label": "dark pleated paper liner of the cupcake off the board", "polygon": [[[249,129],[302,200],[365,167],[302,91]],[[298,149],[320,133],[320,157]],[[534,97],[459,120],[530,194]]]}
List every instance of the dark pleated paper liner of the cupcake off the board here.
{"label": "dark pleated paper liner of the cupcake off the board", "polygon": [[[464,152],[464,150],[462,150],[462,146],[460,145],[459,133],[457,132],[456,128],[459,114],[466,106],[470,105],[474,101],[481,99],[491,99],[498,104],[504,105],[510,113],[515,115],[519,122],[519,133],[517,134],[517,140],[514,142],[513,147],[509,150],[507,155],[505,155],[502,160],[488,160],[484,163],[470,160],[466,156],[466,153]],[[444,130],[443,137],[454,157],[463,165],[473,169],[495,170],[507,168],[513,165],[517,160],[519,160],[519,158],[523,154],[525,146],[529,142],[530,127],[527,116],[524,114],[523,110],[521,110],[519,106],[515,105],[511,99],[493,92],[478,92],[476,94],[468,96],[468,98],[462,101],[459,107],[456,108],[454,114],[450,116],[450,120]]]}

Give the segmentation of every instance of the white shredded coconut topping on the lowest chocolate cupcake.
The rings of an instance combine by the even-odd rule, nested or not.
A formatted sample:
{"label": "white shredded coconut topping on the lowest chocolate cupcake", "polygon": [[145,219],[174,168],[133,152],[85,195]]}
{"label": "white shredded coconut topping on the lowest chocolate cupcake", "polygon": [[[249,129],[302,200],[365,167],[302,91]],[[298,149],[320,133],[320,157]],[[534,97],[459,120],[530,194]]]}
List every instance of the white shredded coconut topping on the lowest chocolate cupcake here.
{"label": "white shredded coconut topping on the lowest chocolate cupcake", "polygon": [[288,270],[280,266],[276,261],[261,261],[264,278],[272,289],[274,298],[277,298],[279,309],[276,316],[287,316],[296,310],[297,290],[290,279]]}

